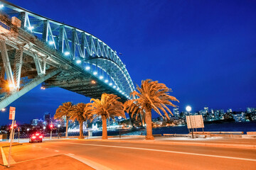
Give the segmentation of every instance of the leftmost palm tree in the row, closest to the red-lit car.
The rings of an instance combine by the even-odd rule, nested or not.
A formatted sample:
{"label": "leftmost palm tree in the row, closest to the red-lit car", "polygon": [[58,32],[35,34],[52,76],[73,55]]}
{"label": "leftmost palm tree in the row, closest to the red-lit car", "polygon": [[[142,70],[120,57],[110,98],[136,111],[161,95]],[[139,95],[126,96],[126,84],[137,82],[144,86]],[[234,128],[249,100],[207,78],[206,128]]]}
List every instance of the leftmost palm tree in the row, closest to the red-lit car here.
{"label": "leftmost palm tree in the row, closest to the red-lit car", "polygon": [[54,119],[60,119],[60,120],[64,120],[64,118],[66,119],[66,135],[65,137],[68,137],[68,122],[70,120],[70,116],[69,113],[71,111],[71,108],[73,107],[73,103],[66,102],[63,103],[62,105],[60,105],[54,115]]}

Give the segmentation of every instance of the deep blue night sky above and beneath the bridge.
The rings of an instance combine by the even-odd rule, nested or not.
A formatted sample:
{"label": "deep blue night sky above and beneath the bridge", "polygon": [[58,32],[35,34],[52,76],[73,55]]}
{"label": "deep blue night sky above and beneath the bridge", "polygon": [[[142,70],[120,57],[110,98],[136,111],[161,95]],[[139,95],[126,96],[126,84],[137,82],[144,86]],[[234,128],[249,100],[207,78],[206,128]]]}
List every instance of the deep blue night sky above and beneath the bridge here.
{"label": "deep blue night sky above and beneath the bridge", "polygon": [[[10,1],[105,41],[122,52],[134,84],[166,84],[181,111],[256,107],[256,1]],[[11,106],[28,123],[66,101],[90,98],[38,86]]]}

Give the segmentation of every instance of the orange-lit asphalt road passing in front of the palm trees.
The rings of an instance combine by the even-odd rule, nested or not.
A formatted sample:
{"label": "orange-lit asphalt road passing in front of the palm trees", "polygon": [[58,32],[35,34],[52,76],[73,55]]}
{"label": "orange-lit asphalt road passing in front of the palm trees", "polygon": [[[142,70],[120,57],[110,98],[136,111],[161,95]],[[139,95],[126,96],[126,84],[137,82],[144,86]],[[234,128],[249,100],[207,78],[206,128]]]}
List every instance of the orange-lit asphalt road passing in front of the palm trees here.
{"label": "orange-lit asphalt road passing in front of the palm trees", "polygon": [[25,143],[12,148],[16,163],[59,154],[95,169],[256,169],[256,149],[86,140]]}

